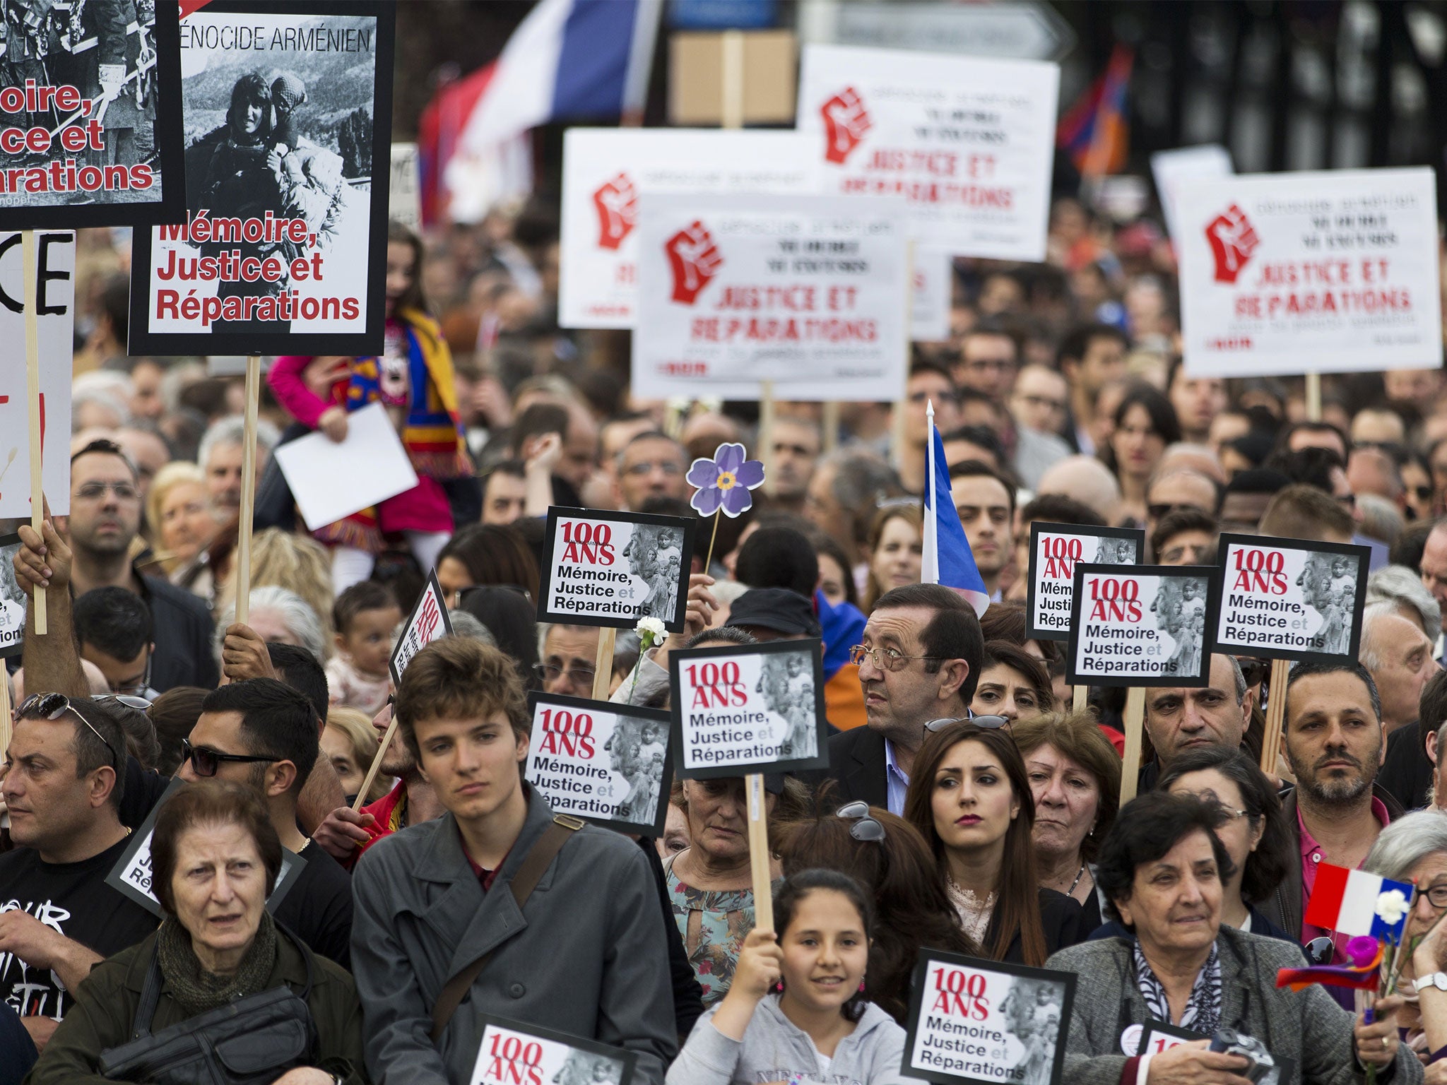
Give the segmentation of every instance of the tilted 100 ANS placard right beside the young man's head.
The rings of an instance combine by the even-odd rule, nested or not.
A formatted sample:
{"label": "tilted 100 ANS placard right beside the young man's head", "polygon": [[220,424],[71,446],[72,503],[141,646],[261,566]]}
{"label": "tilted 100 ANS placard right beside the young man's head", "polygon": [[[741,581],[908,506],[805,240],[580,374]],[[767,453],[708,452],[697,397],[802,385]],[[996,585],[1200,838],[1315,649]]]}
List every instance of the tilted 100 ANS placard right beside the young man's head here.
{"label": "tilted 100 ANS placard right beside the young man's head", "polygon": [[667,712],[551,693],[530,694],[528,709],[532,736],[522,778],[554,813],[663,836],[673,786]]}

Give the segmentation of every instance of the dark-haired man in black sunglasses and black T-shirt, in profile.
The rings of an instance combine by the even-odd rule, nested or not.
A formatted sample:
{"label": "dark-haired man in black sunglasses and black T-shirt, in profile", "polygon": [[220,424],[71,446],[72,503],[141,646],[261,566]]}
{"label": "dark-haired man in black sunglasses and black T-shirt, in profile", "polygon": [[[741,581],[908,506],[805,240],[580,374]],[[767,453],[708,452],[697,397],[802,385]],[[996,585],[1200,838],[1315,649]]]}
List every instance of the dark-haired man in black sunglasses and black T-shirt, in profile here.
{"label": "dark-haired man in black sunglasses and black T-shirt, in profile", "polygon": [[320,754],[317,709],[275,678],[211,690],[181,746],[181,780],[232,780],[255,790],[281,843],[305,865],[272,916],[313,952],[352,962],[352,882],[340,864],[297,827],[297,796]]}

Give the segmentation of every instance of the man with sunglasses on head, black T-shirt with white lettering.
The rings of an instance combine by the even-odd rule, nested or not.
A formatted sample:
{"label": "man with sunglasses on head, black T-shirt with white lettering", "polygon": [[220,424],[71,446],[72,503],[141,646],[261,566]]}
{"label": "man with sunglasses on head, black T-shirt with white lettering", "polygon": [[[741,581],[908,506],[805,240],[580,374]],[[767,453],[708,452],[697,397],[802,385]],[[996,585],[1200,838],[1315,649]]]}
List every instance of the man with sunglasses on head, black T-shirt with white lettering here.
{"label": "man with sunglasses on head, black T-shirt with white lettering", "polygon": [[93,965],[156,929],[106,884],[126,849],[126,738],[109,706],[27,699],[4,751],[0,797],[13,851],[0,854],[0,1000],[43,1047]]}

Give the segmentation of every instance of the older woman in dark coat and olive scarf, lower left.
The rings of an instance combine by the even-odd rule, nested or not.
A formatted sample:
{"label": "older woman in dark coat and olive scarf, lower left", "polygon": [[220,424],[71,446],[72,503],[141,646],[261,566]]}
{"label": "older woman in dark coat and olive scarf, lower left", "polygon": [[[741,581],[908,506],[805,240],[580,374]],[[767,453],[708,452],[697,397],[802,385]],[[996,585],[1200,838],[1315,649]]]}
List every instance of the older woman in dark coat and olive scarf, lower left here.
{"label": "older woman in dark coat and olive scarf, lower left", "polygon": [[[281,869],[281,841],[260,797],[223,781],[185,784],[156,816],[152,877],[165,920],[155,935],[96,965],[75,992],[27,1085],[104,1085],[107,1081],[203,1081],[179,1075],[103,1076],[135,1029],[155,1036],[237,1000],[289,987],[311,1018],[310,1040],[287,1049],[268,1037],[273,1085],[365,1085],[362,1007],[352,977],[314,956],[266,911]],[[152,1013],[142,1013],[155,991]],[[109,1053],[109,1060],[107,1060]]]}

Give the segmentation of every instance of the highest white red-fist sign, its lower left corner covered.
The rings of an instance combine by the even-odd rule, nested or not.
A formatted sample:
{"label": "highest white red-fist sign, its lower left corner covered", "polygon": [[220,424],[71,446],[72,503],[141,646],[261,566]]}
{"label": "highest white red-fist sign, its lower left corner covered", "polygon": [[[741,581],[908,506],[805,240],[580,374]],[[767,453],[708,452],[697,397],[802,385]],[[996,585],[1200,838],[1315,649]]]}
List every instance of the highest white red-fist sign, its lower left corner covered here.
{"label": "highest white red-fist sign, its lower left corner covered", "polygon": [[826,192],[903,195],[913,237],[1037,262],[1059,80],[1040,61],[806,45],[797,127]]}

